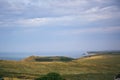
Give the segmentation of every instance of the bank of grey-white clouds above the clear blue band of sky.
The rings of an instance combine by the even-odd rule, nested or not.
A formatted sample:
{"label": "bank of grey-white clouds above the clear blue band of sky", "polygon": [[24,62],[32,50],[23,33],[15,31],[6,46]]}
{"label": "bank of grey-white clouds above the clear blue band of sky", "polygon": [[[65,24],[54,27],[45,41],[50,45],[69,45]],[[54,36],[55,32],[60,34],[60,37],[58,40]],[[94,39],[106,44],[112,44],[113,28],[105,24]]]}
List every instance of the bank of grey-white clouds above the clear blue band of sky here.
{"label": "bank of grey-white clouds above the clear blue band of sky", "polygon": [[120,17],[118,0],[0,0],[1,27],[89,23]]}

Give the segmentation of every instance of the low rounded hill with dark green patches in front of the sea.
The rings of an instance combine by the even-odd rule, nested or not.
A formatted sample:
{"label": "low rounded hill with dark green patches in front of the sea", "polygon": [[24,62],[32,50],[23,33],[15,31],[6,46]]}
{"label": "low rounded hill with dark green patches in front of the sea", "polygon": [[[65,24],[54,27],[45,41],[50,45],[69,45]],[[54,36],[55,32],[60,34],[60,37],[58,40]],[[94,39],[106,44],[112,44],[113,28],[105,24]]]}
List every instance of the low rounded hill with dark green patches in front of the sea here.
{"label": "low rounded hill with dark green patches in front of the sea", "polygon": [[37,61],[37,62],[51,62],[51,61],[72,61],[74,58],[64,57],[64,56],[50,56],[50,57],[41,57],[41,56],[30,56],[23,59],[22,61]]}

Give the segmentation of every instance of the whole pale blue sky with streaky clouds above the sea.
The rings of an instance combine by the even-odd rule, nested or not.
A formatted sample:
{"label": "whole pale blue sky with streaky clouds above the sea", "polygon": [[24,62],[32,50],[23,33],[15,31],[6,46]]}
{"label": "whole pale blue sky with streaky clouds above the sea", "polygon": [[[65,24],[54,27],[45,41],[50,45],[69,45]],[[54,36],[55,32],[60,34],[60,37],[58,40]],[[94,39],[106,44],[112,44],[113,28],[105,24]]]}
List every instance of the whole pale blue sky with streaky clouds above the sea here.
{"label": "whole pale blue sky with streaky clouds above the sea", "polygon": [[120,0],[0,0],[0,52],[101,50],[120,50]]}

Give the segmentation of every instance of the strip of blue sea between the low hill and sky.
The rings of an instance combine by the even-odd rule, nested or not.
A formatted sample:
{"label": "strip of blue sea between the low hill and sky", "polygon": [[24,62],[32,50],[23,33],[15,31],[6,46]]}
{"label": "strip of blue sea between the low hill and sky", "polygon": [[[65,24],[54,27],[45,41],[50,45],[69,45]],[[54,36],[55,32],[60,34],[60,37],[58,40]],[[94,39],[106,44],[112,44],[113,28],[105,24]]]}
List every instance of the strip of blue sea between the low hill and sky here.
{"label": "strip of blue sea between the low hill and sky", "polygon": [[72,58],[80,58],[86,56],[85,51],[79,52],[35,52],[35,53],[26,53],[26,52],[0,52],[0,60],[15,60],[20,61],[29,56],[66,56]]}

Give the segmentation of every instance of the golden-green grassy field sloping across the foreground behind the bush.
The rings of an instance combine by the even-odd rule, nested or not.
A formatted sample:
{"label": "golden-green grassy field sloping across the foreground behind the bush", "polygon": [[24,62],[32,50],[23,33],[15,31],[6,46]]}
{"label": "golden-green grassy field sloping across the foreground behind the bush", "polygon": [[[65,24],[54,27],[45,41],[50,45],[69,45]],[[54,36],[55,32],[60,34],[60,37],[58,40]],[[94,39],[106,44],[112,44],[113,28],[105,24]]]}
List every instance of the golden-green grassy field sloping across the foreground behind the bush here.
{"label": "golden-green grassy field sloping across the foreground behind the bush", "polygon": [[120,54],[102,54],[70,62],[27,62],[0,60],[0,75],[34,79],[49,72],[60,73],[66,80],[113,80],[120,72]]}

